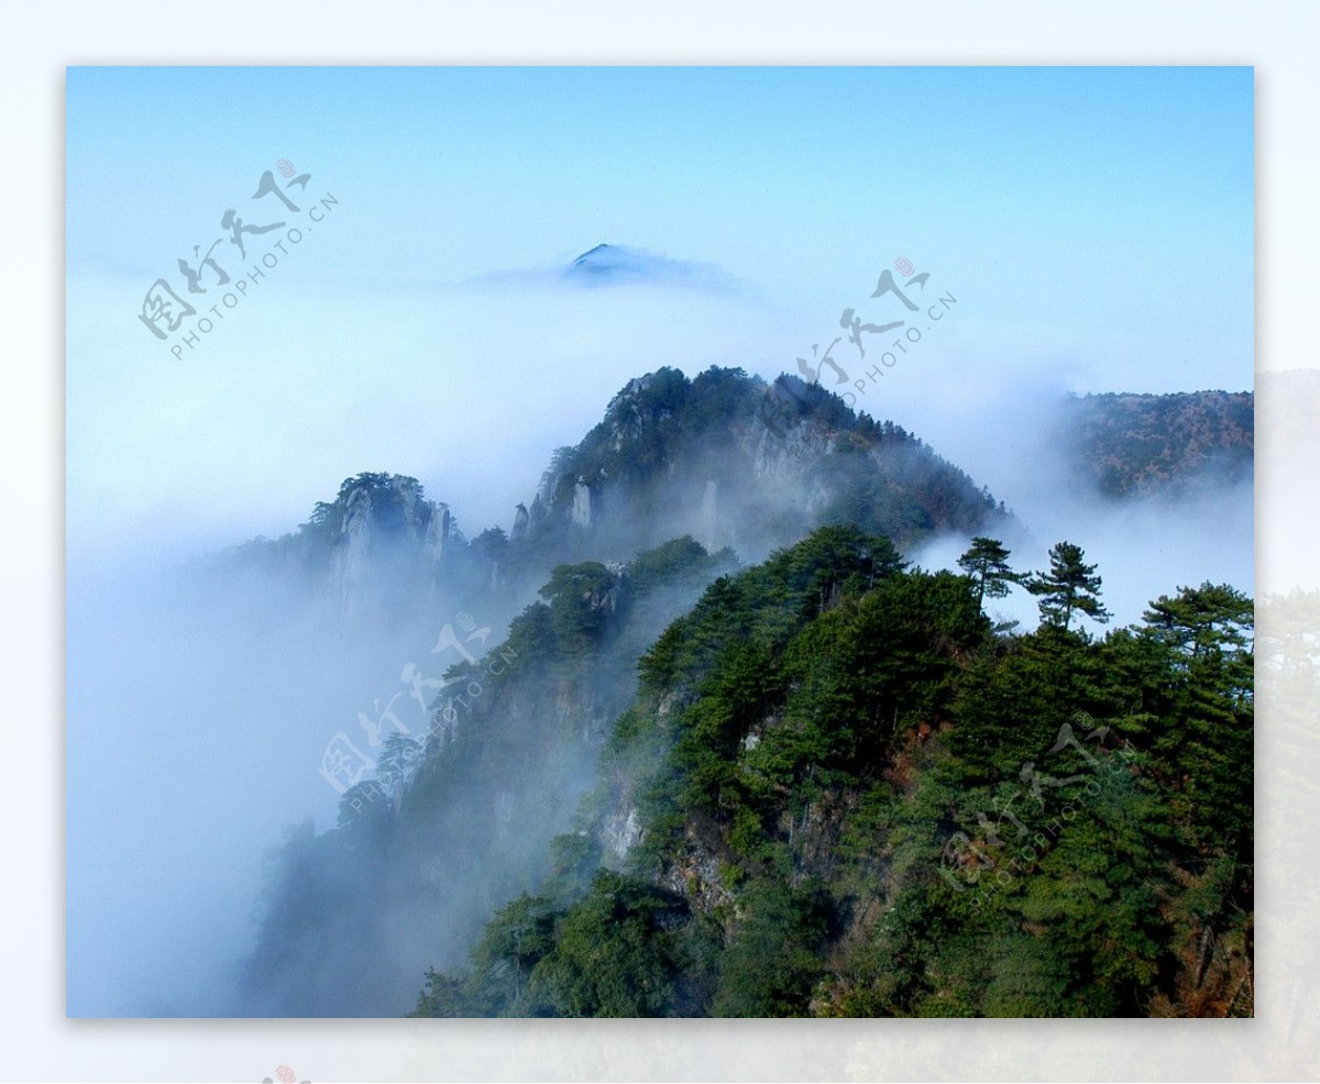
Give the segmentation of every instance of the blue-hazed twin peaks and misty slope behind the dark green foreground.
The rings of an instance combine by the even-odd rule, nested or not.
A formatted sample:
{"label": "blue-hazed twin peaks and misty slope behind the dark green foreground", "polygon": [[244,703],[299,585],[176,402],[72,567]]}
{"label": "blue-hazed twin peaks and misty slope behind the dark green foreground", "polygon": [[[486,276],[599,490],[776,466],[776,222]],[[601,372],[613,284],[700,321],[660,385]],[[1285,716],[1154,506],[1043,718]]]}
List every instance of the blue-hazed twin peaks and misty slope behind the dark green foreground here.
{"label": "blue-hazed twin peaks and misty slope behind the dark green foreground", "polygon": [[[364,472],[296,531],[223,557],[224,575],[273,579],[290,609],[305,592],[314,622],[358,638],[455,611],[490,625],[519,615],[499,649],[486,651],[484,638],[465,647],[473,662],[444,674],[440,691],[405,669],[404,680],[411,671],[426,683],[412,690],[429,706],[425,733],[392,733],[388,709],[376,724],[359,713],[372,769],[341,783],[337,829],[304,826],[272,858],[247,1004],[400,1013],[418,956],[459,963],[480,922],[544,874],[550,837],[570,823],[635,694],[636,659],[746,558],[715,541],[755,553],[861,520],[916,542],[1006,514],[898,426],[784,380],[791,396],[774,427],[763,419],[770,389],[742,371],[630,381],[601,425],[553,456],[508,534],[469,539],[416,479]],[[524,609],[529,597],[540,601]],[[479,695],[465,695],[469,684]],[[627,840],[634,827],[624,816],[610,831]]]}

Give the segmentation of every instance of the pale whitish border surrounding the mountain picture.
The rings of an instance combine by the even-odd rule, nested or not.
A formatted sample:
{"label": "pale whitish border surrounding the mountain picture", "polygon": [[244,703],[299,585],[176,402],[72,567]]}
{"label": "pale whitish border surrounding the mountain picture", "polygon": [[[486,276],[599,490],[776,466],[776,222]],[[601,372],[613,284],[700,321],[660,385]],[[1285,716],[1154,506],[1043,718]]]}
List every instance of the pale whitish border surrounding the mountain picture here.
{"label": "pale whitish border surrounding the mountain picture", "polygon": [[[1258,1019],[1251,1022],[69,1022],[63,1019],[62,735],[62,144],[66,63],[1234,63],[1257,66],[1258,369],[1313,367],[1317,190],[1312,44],[1303,3],[1110,4],[1060,12],[817,4],[722,9],[671,4],[624,17],[615,5],[504,5],[479,17],[451,5],[315,8],[127,4],[24,8],[9,15],[0,70],[13,152],[4,185],[3,274],[5,686],[12,704],[0,989],[11,1079],[1316,1079],[1315,980],[1288,973],[1271,936],[1271,895],[1315,884],[1298,861],[1308,808],[1261,811]],[[417,42],[422,42],[418,45]],[[168,129],[160,153],[168,162]],[[1262,433],[1262,444],[1267,442]],[[1274,469],[1261,456],[1261,471]],[[1291,533],[1258,520],[1262,562],[1292,564],[1313,516]],[[1265,500],[1258,514],[1271,512]],[[1274,520],[1278,525],[1282,520]],[[1267,568],[1258,568],[1263,576]],[[1320,586],[1307,583],[1307,587]],[[1271,583],[1271,588],[1287,584]],[[1262,704],[1258,793],[1280,757]],[[1303,746],[1303,752],[1309,746]],[[1294,778],[1313,778],[1296,762]],[[1313,806],[1313,795],[1308,802]],[[1286,877],[1283,876],[1286,874]],[[1284,881],[1287,884],[1284,884]],[[1313,898],[1313,888],[1300,893]],[[1305,906],[1305,905],[1304,905]],[[1315,913],[1315,905],[1312,914]],[[1278,927],[1275,928],[1275,932]],[[1295,957],[1296,959],[1296,957]]]}

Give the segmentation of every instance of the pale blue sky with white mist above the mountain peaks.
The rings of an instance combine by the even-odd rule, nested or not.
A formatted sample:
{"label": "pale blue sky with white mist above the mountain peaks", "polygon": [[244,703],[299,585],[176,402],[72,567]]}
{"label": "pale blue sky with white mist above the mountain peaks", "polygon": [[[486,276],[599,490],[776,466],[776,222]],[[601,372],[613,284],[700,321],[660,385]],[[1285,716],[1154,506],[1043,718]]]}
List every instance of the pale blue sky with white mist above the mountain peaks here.
{"label": "pale blue sky with white mist above the mountain peaks", "polygon": [[[508,518],[628,377],[792,368],[899,256],[961,309],[866,405],[937,447],[916,404],[969,381],[1251,382],[1250,69],[70,69],[67,149],[73,558],[284,530],[359,469]],[[145,289],[279,158],[333,214],[173,357]],[[746,290],[474,285],[599,241]]]}

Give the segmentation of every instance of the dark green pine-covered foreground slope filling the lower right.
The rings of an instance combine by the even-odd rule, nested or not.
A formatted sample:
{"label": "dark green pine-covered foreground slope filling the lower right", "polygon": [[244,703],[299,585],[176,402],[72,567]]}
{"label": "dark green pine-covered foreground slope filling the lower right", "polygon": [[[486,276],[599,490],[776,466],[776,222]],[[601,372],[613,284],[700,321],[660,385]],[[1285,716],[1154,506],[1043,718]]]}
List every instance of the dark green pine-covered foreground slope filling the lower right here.
{"label": "dark green pine-covered foreground slope filling the lower right", "polygon": [[1250,600],[1093,640],[1060,543],[1040,628],[1002,636],[1001,550],[927,572],[825,527],[715,580],[537,894],[416,1014],[1250,1014]]}

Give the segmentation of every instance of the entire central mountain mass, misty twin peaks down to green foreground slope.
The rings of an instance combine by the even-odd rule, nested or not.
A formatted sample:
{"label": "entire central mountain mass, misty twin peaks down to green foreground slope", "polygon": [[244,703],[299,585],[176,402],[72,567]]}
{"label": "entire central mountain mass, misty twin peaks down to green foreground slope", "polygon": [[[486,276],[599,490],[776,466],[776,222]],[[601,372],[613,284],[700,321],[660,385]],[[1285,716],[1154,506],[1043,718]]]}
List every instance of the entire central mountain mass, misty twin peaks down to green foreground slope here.
{"label": "entire central mountain mass, misty twin peaks down to green foreground slope", "polygon": [[[400,1014],[432,967],[424,1015],[1250,1013],[1242,596],[1094,641],[1078,546],[1012,571],[920,440],[737,369],[630,381],[529,504],[469,539],[363,473],[227,558],[517,613],[272,856],[243,1011]],[[965,575],[908,567],[937,531],[981,533]]]}

